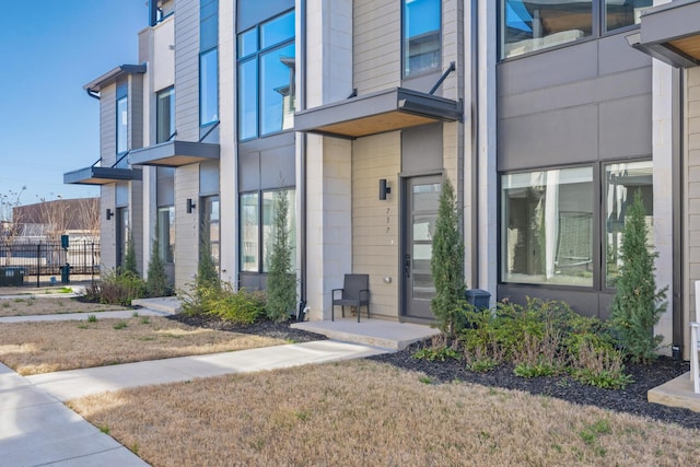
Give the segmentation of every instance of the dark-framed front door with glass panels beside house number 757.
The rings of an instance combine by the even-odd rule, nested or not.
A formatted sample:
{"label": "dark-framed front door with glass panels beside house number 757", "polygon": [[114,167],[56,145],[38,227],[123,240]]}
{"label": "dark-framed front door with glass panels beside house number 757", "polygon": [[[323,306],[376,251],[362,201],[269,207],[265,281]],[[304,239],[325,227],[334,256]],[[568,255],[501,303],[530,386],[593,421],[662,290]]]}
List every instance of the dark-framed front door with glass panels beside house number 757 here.
{"label": "dark-framed front door with glass panels beside house number 757", "polygon": [[430,311],[435,295],[430,260],[441,184],[442,176],[438,175],[405,179],[401,261],[404,315],[408,318],[434,319]]}

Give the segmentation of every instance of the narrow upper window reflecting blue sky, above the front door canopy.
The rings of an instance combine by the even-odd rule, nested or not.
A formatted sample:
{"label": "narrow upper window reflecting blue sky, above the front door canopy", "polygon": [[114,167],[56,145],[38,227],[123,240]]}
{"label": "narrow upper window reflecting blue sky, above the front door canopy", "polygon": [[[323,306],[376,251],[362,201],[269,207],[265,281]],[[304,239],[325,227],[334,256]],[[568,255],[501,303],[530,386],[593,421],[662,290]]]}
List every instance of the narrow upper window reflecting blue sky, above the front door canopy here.
{"label": "narrow upper window reflecting blue sky, above the front door canopy", "polygon": [[404,78],[440,69],[441,0],[404,0]]}

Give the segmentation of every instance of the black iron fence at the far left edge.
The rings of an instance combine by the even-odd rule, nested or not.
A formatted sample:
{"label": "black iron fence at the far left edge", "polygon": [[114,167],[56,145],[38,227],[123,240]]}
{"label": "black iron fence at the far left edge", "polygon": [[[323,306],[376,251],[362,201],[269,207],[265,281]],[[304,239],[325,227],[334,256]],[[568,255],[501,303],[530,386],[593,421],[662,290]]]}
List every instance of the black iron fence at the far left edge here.
{"label": "black iron fence at the far left edge", "polygon": [[66,271],[89,276],[86,279],[98,276],[100,243],[71,240],[68,248],[62,248],[60,241],[0,243],[0,285],[19,285],[18,277],[28,283],[51,277],[60,281]]}

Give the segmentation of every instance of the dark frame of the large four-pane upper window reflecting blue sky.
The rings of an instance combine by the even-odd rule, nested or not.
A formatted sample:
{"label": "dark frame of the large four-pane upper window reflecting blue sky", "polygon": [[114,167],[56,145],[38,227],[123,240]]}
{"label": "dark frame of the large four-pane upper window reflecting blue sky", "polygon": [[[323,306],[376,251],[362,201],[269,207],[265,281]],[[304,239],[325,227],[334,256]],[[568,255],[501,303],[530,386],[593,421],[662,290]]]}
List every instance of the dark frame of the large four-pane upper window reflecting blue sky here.
{"label": "dark frame of the large four-pane upper window reflecting blue sky", "polygon": [[[285,47],[289,47],[290,45],[294,46],[294,56],[296,56],[296,51],[295,51],[295,45],[296,45],[296,30],[294,28],[294,34],[291,37],[288,37],[285,39],[282,39],[280,42],[267,45],[267,46],[262,46],[262,27],[266,24],[272,23],[288,14],[292,14],[294,16],[294,24],[296,21],[296,11],[295,9],[289,9],[285,10],[279,14],[276,14],[275,16],[268,17],[265,21],[261,21],[258,24],[255,24],[252,27],[248,27],[244,31],[241,31],[240,33],[236,34],[235,40],[236,40],[236,97],[237,97],[237,102],[238,104],[245,102],[246,100],[243,97],[243,92],[246,91],[244,86],[241,85],[241,69],[242,69],[242,65],[246,65],[246,63],[254,63],[254,69],[255,69],[255,95],[253,96],[253,104],[255,107],[255,131],[252,132],[252,136],[245,136],[243,137],[243,125],[244,122],[247,120],[245,118],[244,115],[241,114],[241,112],[244,109],[244,106],[238,105],[237,106],[237,110],[236,110],[236,119],[237,119],[237,125],[236,125],[236,135],[237,135],[237,140],[240,142],[242,141],[250,141],[250,140],[255,140],[255,139],[259,139],[259,138],[266,138],[269,136],[273,136],[273,135],[279,135],[285,131],[294,131],[294,126],[292,125],[290,128],[282,128],[280,130],[276,130],[276,131],[270,131],[270,132],[262,132],[262,108],[261,108],[261,101],[262,101],[262,86],[261,86],[261,80],[262,80],[262,74],[261,74],[261,58],[275,52],[278,49],[283,49]],[[242,55],[242,42],[241,38],[243,36],[245,36],[246,34],[249,33],[254,33],[255,34],[255,50],[246,54],[246,55]],[[295,77],[295,74],[294,74]],[[290,83],[290,86],[294,87],[295,83],[295,78],[294,80],[292,80],[292,82]],[[250,90],[253,91],[253,90]],[[294,96],[295,97],[295,96]],[[295,101],[295,98],[294,98]],[[282,104],[283,105],[283,104]],[[246,135],[248,135],[246,132]]]}

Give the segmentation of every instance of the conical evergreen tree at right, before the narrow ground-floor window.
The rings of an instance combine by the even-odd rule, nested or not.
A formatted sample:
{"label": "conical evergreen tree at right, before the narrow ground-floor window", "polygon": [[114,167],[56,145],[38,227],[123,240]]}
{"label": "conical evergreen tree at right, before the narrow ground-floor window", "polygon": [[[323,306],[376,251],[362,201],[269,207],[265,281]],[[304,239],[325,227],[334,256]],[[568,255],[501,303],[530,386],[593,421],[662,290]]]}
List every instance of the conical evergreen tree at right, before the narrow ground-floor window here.
{"label": "conical evergreen tree at right, before the narrow ground-floor window", "polygon": [[661,336],[654,336],[654,326],[666,310],[668,288],[656,288],[654,258],[658,254],[646,246],[645,215],[641,190],[637,190],[622,231],[622,264],[611,317],[625,352],[633,361],[649,363],[656,357],[655,350],[662,340]]}

